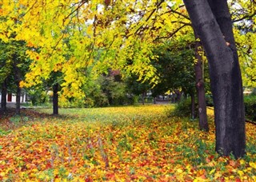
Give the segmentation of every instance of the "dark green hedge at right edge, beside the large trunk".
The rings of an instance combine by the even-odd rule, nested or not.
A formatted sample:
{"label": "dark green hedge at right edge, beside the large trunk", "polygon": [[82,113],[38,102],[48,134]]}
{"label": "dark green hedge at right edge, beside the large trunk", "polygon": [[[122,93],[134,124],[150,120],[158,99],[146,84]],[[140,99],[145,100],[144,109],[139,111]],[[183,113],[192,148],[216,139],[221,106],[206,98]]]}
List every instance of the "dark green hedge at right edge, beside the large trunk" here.
{"label": "dark green hedge at right edge, beside the large trunk", "polygon": [[256,95],[251,94],[244,97],[246,118],[256,121]]}

